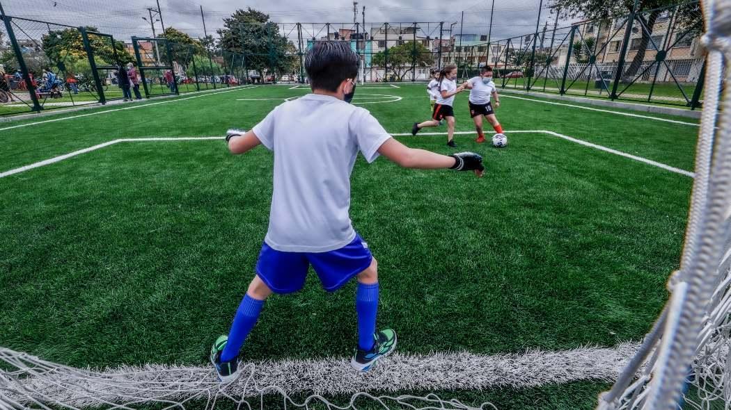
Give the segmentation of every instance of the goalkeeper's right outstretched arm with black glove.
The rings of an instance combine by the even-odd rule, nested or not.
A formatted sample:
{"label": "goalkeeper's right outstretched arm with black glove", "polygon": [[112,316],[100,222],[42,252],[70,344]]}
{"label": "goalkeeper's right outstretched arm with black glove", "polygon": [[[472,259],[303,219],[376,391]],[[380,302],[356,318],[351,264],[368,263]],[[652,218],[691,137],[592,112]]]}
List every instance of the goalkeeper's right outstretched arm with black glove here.
{"label": "goalkeeper's right outstretched arm with black glove", "polygon": [[[392,160],[404,168],[412,169],[455,169],[459,171],[474,171],[477,177],[482,177],[484,168],[482,167],[482,158],[479,159],[477,165],[472,161],[466,165],[463,158],[458,155],[441,155],[436,152],[427,150],[418,150],[406,147],[401,142],[391,138],[384,142],[378,149],[379,154]],[[476,155],[476,154],[473,154]],[[477,155],[479,157],[479,155]],[[473,168],[474,166],[474,168]]]}

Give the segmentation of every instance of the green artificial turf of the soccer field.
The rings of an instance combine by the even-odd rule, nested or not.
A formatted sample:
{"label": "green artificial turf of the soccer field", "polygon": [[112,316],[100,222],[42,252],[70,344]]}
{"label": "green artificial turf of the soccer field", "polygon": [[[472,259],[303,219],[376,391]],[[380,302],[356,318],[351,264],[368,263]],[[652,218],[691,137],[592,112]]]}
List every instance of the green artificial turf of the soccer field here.
{"label": "green artificial turf of the soccer field", "polygon": [[[111,139],[251,128],[282,100],[237,98],[304,93],[232,88],[0,131],[0,172]],[[388,131],[428,119],[421,86],[359,87],[356,98],[373,94],[403,98],[363,106]],[[458,150],[484,156],[482,179],[357,160],[351,217],[379,260],[379,325],[395,328],[401,352],[413,353],[640,340],[678,267],[692,178],[510,131],[555,131],[692,170],[697,127],[502,102],[508,147],[456,137]],[[458,131],[471,129],[465,106],[458,96]],[[399,139],[454,152],[444,136]],[[0,179],[0,346],[75,366],[204,364],[253,276],[271,179],[265,148],[236,157],[216,140],[123,142]],[[314,275],[303,292],[273,296],[244,359],[349,355],[354,296],[355,284],[328,294]],[[606,388],[588,381],[465,394],[503,401],[500,409],[591,409]]]}

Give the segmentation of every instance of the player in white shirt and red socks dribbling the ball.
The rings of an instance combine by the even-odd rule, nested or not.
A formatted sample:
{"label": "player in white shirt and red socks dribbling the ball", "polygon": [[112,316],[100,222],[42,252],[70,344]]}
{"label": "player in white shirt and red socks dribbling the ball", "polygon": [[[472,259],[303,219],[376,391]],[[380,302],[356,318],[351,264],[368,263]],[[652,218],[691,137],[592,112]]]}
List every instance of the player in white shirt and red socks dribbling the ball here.
{"label": "player in white shirt and red socks dribbling the ball", "polygon": [[495,99],[495,107],[500,107],[500,97],[493,82],[493,69],[491,66],[484,66],[480,69],[480,76],[473,77],[463,84],[469,90],[469,115],[474,120],[474,128],[477,129],[477,142],[485,142],[485,134],[482,132],[482,117],[488,119],[495,132],[503,134],[502,125],[495,116],[495,111],[490,102],[490,96]]}

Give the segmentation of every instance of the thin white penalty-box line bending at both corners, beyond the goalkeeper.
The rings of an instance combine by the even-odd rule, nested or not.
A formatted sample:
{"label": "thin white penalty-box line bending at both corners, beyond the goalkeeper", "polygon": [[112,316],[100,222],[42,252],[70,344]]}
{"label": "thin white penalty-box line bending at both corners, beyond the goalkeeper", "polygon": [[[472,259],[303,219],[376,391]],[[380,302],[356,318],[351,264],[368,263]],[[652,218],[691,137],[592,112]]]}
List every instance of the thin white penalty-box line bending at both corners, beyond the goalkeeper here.
{"label": "thin white penalty-box line bending at both corners, beyond the goalkeeper", "polygon": [[[455,135],[463,135],[463,134],[474,134],[474,131],[455,131]],[[591,142],[586,142],[581,139],[575,139],[571,136],[566,136],[564,134],[558,134],[553,131],[546,131],[546,130],[518,130],[518,131],[507,131],[507,134],[547,134],[550,136],[556,136],[561,139],[565,139],[570,142],[575,142],[576,144],[581,144],[585,147],[591,147],[596,150],[609,152],[610,154],[614,155],[620,155],[624,158],[629,158],[632,160],[637,160],[641,163],[646,163],[651,166],[656,166],[660,169],[664,169],[666,171],[675,172],[675,174],[681,174],[685,175],[686,177],[695,177],[695,174],[690,171],[685,171],[683,169],[675,168],[674,166],[669,166],[664,163],[659,163],[654,160],[648,160],[647,158],[638,157],[637,155],[628,154],[626,152],[621,152],[618,150],[613,150],[612,148],[604,147],[599,144],[593,144]],[[411,136],[411,133],[395,133],[391,134],[392,136]],[[418,135],[444,135],[443,132],[423,132]],[[94,145],[93,147],[84,148],[83,150],[77,150],[74,152],[69,152],[68,154],[59,155],[58,157],[50,158],[48,160],[42,160],[37,163],[31,163],[30,165],[21,166],[20,168],[11,169],[10,171],[4,171],[0,173],[0,178],[4,177],[10,177],[10,175],[18,174],[23,171],[29,171],[30,169],[38,168],[40,166],[46,166],[50,165],[52,163],[57,163],[62,160],[66,160],[68,158],[75,157],[77,155],[85,154],[86,152],[91,152],[94,150],[99,150],[104,147],[108,147],[112,144],[117,144],[118,142],[146,142],[146,141],[195,141],[195,140],[211,140],[211,139],[224,139],[222,136],[189,136],[189,137],[161,137],[161,138],[124,138],[124,139],[114,139],[110,142],[105,142],[103,144]]]}

